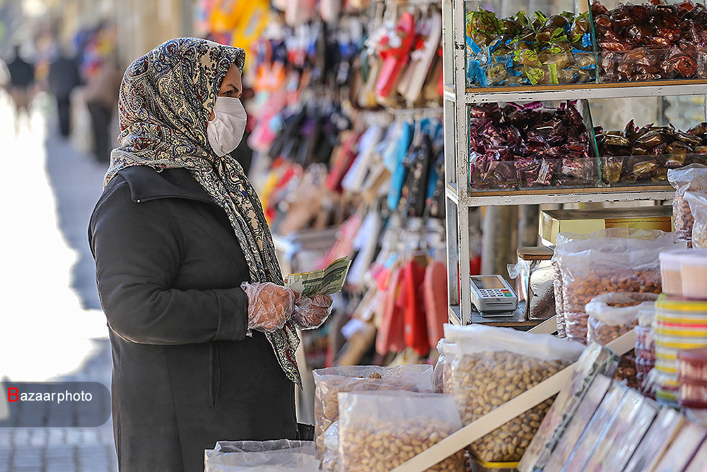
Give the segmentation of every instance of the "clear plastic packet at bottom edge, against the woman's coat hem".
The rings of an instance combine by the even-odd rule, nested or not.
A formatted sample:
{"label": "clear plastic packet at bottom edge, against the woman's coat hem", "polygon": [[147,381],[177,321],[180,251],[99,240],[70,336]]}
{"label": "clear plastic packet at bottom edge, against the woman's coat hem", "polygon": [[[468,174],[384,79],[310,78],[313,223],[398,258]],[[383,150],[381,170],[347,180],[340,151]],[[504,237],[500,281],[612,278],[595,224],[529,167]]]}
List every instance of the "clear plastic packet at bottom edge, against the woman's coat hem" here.
{"label": "clear plastic packet at bottom edge, against the woman's coat hem", "polygon": [[312,441],[219,441],[204,451],[204,472],[315,472],[319,459]]}

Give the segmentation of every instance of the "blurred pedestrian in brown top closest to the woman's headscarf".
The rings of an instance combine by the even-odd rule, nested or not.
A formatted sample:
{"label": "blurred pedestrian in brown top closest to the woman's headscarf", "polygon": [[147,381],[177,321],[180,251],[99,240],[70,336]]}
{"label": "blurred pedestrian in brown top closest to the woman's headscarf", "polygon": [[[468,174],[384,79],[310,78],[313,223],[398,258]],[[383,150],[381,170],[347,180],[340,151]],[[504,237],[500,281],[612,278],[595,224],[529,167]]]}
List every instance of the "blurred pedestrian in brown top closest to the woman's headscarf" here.
{"label": "blurred pedestrian in brown top closest to the woman's headscarf", "polygon": [[122,69],[117,59],[109,57],[88,79],[83,96],[86,98],[93,129],[93,155],[101,163],[110,161],[110,122],[118,106]]}

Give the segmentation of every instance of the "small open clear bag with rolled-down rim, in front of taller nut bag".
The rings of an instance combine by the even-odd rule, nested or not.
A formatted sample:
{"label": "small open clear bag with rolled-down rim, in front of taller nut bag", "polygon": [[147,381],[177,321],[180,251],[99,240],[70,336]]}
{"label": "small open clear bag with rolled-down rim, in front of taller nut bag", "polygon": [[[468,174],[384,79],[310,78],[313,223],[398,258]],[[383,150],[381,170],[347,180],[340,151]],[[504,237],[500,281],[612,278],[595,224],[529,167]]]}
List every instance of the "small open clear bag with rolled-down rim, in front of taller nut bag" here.
{"label": "small open clear bag with rolled-down rim, in front of taller nut bag", "polygon": [[594,297],[586,306],[588,341],[607,345],[638,326],[638,313],[655,306],[658,294],[611,292]]}

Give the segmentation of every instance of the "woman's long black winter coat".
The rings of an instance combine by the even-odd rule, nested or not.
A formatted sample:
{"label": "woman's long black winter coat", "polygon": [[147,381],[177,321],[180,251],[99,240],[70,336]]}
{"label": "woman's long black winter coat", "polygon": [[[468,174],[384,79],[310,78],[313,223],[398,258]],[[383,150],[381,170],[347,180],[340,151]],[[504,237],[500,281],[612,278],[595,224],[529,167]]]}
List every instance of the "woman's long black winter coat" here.
{"label": "woman's long black winter coat", "polygon": [[296,439],[294,386],[267,338],[246,336],[243,252],[189,171],[120,171],[88,238],[121,472],[202,472],[218,440]]}

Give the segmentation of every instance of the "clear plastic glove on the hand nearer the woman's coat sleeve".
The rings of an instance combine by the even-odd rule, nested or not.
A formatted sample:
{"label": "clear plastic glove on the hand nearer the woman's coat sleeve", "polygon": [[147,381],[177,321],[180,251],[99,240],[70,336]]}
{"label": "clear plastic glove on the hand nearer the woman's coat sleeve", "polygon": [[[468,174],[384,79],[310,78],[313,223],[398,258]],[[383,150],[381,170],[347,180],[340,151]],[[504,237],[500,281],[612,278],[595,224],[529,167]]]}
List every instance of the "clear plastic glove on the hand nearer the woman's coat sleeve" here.
{"label": "clear plastic glove on the hand nearer the woman's coat sleeve", "polygon": [[248,296],[248,329],[272,333],[292,317],[295,302],[300,299],[296,290],[272,282],[240,284]]}

